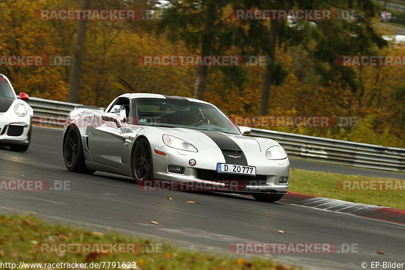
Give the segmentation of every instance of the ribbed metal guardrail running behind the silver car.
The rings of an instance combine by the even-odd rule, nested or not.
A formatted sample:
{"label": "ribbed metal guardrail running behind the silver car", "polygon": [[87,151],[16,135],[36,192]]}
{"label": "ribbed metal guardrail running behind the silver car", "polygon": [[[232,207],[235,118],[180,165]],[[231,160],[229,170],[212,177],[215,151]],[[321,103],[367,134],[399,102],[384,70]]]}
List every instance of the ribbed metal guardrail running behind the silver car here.
{"label": "ribbed metal guardrail running behind the silver car", "polygon": [[[33,123],[63,126],[69,111],[81,104],[31,97]],[[286,149],[290,158],[320,161],[360,168],[405,172],[405,149],[381,145],[334,140],[252,128],[250,136],[274,139]]]}

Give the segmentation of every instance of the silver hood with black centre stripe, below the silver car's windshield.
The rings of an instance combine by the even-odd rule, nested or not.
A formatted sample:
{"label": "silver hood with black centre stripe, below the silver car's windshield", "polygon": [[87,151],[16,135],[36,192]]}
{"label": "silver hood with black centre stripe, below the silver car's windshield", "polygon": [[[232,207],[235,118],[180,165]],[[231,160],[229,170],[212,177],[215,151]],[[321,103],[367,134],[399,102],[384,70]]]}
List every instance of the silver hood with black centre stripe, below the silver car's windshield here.
{"label": "silver hood with black centre stripe, below the silver car's windshield", "polygon": [[[197,130],[187,128],[159,127],[168,135],[174,135],[190,142],[195,147],[218,147],[227,150],[260,152],[260,145],[255,138],[242,135],[227,134],[218,131]],[[237,149],[238,147],[239,149]]]}

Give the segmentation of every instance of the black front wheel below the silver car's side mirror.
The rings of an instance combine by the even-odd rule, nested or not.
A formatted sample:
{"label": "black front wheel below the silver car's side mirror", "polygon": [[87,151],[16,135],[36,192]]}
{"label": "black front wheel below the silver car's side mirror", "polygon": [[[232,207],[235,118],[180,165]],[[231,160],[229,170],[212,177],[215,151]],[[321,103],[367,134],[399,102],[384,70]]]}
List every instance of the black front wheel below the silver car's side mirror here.
{"label": "black front wheel below the silver car's side mirror", "polygon": [[153,165],[150,144],[146,138],[141,138],[135,146],[132,162],[135,182],[150,180]]}

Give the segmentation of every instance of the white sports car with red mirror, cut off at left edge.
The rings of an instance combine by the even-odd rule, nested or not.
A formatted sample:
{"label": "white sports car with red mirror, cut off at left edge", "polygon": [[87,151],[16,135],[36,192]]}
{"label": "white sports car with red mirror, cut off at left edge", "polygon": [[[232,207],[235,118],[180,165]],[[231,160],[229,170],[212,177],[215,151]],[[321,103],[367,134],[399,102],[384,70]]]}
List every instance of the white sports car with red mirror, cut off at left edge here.
{"label": "white sports car with red mirror, cut off at left edge", "polygon": [[0,145],[13,151],[26,151],[31,138],[33,110],[24,100],[28,95],[16,95],[9,79],[0,74]]}

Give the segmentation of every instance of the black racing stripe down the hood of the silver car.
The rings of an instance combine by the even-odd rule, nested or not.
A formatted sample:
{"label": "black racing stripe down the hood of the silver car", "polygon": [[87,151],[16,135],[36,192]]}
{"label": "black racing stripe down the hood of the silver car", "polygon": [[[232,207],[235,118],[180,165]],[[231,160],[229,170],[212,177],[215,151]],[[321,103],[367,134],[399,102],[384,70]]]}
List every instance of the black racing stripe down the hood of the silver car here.
{"label": "black racing stripe down the hood of the silver car", "polygon": [[[222,155],[224,155],[225,163],[236,165],[248,165],[245,153],[242,151],[242,149],[240,149],[239,145],[237,145],[236,142],[234,142],[231,138],[217,131],[210,131],[210,130],[198,130],[198,131],[210,137],[210,139],[212,139],[218,145],[218,147],[222,151]],[[230,156],[240,158],[232,158]]]}

